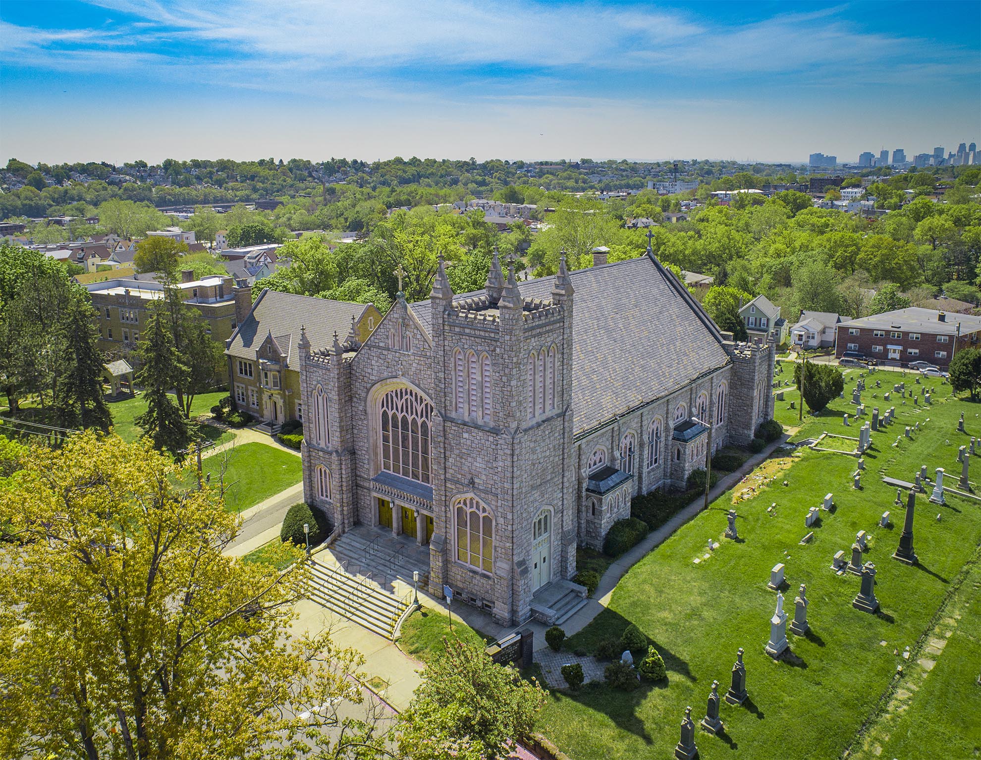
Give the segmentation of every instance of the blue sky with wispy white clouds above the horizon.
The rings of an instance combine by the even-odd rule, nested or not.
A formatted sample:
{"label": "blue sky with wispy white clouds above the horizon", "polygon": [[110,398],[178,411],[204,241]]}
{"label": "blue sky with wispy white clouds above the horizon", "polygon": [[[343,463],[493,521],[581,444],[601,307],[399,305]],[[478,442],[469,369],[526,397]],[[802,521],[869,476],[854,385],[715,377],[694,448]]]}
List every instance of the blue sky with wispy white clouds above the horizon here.
{"label": "blue sky with wispy white clouds above the horizon", "polygon": [[854,161],[981,142],[981,2],[3,0],[0,156]]}

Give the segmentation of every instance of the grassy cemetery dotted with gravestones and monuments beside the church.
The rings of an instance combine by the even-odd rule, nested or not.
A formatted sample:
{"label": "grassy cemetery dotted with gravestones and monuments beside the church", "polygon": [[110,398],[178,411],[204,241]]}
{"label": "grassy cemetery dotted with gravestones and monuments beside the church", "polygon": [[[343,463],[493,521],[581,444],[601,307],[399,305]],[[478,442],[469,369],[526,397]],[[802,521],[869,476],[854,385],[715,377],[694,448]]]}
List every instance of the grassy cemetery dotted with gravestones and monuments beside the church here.
{"label": "grassy cemetery dotted with gravestones and monuments beside the church", "polygon": [[[847,451],[781,452],[777,477],[750,474],[716,498],[566,639],[604,653],[636,626],[667,670],[630,690],[552,691],[539,730],[570,758],[976,756],[981,722],[965,716],[981,700],[981,467],[970,468],[981,404],[932,379],[930,403],[904,404],[922,385],[901,390],[880,372],[845,430],[858,376],[792,441],[857,437],[868,423],[861,464]],[[796,427],[796,411],[785,418],[800,394],[784,393],[777,418]],[[698,561],[706,537],[718,546]]]}

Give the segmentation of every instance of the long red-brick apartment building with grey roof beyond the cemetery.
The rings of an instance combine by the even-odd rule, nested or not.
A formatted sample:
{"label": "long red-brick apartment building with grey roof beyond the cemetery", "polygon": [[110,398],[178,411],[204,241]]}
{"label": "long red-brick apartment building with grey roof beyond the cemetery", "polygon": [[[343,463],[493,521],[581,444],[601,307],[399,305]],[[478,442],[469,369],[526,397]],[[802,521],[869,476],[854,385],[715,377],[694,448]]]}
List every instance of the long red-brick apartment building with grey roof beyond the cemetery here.
{"label": "long red-brick apartment building with grey roof beyond the cemetery", "polygon": [[962,348],[976,346],[981,317],[911,306],[836,326],[835,356],[858,351],[880,364],[930,362],[947,369]]}

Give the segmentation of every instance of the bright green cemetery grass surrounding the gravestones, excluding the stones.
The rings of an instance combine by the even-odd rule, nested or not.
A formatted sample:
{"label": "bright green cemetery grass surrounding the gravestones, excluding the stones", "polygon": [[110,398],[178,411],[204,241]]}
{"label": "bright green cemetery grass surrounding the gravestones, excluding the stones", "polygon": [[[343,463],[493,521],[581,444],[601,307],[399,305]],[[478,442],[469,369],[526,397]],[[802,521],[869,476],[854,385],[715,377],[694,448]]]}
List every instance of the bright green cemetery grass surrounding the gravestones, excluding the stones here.
{"label": "bright green cemetery grass surrounding the gravestones, excluding the stones", "polygon": [[[892,381],[898,381],[892,373],[882,372],[878,377],[884,385],[891,380],[890,387]],[[854,457],[802,450],[773,484],[735,506],[742,542],[722,538],[725,512],[733,506],[729,492],[635,565],[614,590],[610,607],[572,636],[567,646],[592,651],[599,641],[619,636],[634,623],[664,657],[667,684],[645,685],[629,693],[605,684],[579,692],[553,692],[542,713],[542,733],[574,760],[670,757],[685,706],[692,705],[693,715],[700,720],[712,680],[718,680],[720,692],[728,688],[736,650],[742,646],[749,702],[743,707],[723,703],[726,735],[698,732],[700,756],[705,760],[838,758],[852,745],[856,732],[893,683],[897,665],[903,662],[894,650],[914,647],[936,625],[935,613],[981,541],[981,503],[952,497],[948,506],[940,507],[920,497],[914,544],[921,565],[908,567],[891,559],[902,527],[902,509],[893,503],[895,489],[879,480],[880,472],[912,480],[912,469],[921,461],[931,469],[943,464],[951,470],[955,442],[959,445],[964,438],[954,432],[962,410],[968,433],[981,431],[981,417],[974,417],[975,410],[981,413],[981,406],[976,404],[935,403],[920,410],[907,402],[896,409],[896,424],[872,433],[873,448],[865,455],[867,473],[861,490],[851,487]],[[899,447],[892,446],[905,425],[922,423],[928,417],[930,424],[912,441],[904,439]],[[841,418],[838,420],[840,425]],[[821,424],[820,418],[808,426],[815,424]],[[981,472],[978,476],[981,482]],[[788,485],[783,486],[783,481]],[[835,511],[822,512],[819,525],[805,528],[807,509],[819,506],[828,491],[835,494]],[[766,508],[774,502],[777,509],[768,513]],[[890,529],[878,527],[886,510],[892,513]],[[809,530],[814,531],[813,539],[800,545],[800,538]],[[839,577],[829,569],[836,551],[850,553],[857,531],[868,532],[865,560],[878,569],[876,592],[882,605],[878,616],[852,608],[857,578]],[[721,546],[702,559],[707,536],[719,540]],[[693,562],[696,558],[698,564]],[[775,663],[764,654],[763,645],[776,601],[766,583],[778,562],[786,565],[785,606],[791,617],[798,586],[807,585],[812,632],[806,637],[788,632],[793,660]],[[959,587],[970,597],[966,601],[978,603],[979,590],[974,584]],[[976,628],[968,625],[964,631],[976,636]],[[964,641],[962,646],[971,643]],[[946,680],[962,679],[956,654],[960,644],[954,639],[950,645],[955,647],[951,661],[944,669],[938,664],[927,679],[927,683],[935,679],[933,687],[938,692],[945,688]],[[947,656],[945,653],[940,663]],[[970,676],[976,678],[977,673]],[[956,693],[969,692],[962,688]],[[951,694],[953,704],[946,706],[923,700],[916,720],[925,724],[936,718],[936,711],[951,710],[939,725],[958,731],[957,714],[963,719],[974,711],[956,693]],[[977,698],[973,697],[975,705]],[[961,737],[963,723],[961,720]],[[911,724],[909,731],[915,732],[918,725]],[[932,736],[921,736],[917,744],[910,735],[906,746],[915,747],[914,754],[889,750],[891,754],[883,757],[950,757],[951,746],[961,745],[945,742],[943,729]]]}

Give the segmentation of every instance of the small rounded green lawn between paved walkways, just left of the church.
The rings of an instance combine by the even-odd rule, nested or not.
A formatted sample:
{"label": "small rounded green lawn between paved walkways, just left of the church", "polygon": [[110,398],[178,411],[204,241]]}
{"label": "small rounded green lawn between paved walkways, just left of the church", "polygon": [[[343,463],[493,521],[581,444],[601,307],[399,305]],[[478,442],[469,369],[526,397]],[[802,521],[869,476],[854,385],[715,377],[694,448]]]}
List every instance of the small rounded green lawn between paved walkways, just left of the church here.
{"label": "small rounded green lawn between paved walkways, just left of the church", "polygon": [[[295,454],[265,443],[245,443],[204,459],[203,473],[211,474],[213,485],[226,458],[225,508],[230,512],[248,509],[303,478],[302,463]],[[188,470],[187,479],[194,480],[193,470]]]}

